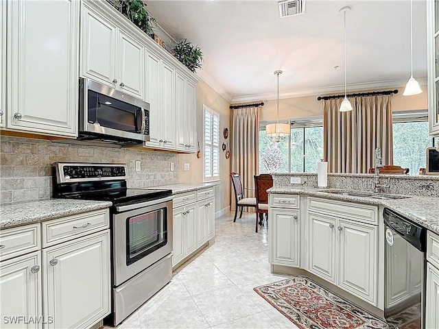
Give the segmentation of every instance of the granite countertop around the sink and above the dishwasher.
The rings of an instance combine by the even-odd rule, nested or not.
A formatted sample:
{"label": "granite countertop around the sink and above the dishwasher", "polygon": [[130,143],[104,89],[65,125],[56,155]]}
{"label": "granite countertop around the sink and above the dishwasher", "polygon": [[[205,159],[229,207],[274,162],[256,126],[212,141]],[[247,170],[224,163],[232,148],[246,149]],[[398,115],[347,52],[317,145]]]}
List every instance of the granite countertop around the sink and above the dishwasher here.
{"label": "granite countertop around the sink and above the dishwasher", "polygon": [[267,191],[268,193],[302,194],[340,201],[357,202],[360,204],[384,206],[390,210],[393,210],[394,212],[399,213],[399,215],[411,219],[414,221],[414,223],[418,223],[420,226],[439,234],[439,197],[410,196],[405,199],[372,199],[368,197],[356,197],[354,195],[328,193],[331,191],[342,191],[334,188],[328,188],[327,190],[322,191],[319,188],[312,188],[308,186],[303,186],[300,188],[280,186],[269,188]]}

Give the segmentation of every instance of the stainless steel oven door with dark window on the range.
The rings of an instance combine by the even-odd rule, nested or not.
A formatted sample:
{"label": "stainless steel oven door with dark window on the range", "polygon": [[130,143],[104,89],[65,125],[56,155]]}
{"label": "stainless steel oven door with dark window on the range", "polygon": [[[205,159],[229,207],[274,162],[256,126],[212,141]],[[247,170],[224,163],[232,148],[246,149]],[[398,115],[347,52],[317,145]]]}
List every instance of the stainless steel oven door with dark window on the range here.
{"label": "stainless steel oven door with dark window on the range", "polygon": [[172,252],[172,201],[157,202],[112,215],[115,287]]}

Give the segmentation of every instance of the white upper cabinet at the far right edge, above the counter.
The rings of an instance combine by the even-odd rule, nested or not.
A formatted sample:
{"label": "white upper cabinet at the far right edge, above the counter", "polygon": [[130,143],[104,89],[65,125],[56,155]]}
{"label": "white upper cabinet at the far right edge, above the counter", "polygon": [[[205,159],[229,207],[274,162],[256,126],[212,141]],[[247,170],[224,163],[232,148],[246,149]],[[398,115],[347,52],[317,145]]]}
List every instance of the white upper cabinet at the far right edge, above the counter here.
{"label": "white upper cabinet at the far right edge, above the counter", "polygon": [[427,0],[428,107],[431,135],[439,135],[439,3]]}

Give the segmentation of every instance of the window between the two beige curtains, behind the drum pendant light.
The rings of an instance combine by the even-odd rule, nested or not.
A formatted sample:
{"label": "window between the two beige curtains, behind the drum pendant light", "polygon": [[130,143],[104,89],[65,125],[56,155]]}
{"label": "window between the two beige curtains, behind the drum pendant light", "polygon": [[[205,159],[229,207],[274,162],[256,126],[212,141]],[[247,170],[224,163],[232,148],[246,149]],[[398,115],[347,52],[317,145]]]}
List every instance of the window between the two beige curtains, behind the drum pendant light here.
{"label": "window between the two beige curtains, behind the drum pendant light", "polygon": [[312,173],[323,158],[322,118],[296,120],[291,134],[276,143],[259,128],[259,173]]}

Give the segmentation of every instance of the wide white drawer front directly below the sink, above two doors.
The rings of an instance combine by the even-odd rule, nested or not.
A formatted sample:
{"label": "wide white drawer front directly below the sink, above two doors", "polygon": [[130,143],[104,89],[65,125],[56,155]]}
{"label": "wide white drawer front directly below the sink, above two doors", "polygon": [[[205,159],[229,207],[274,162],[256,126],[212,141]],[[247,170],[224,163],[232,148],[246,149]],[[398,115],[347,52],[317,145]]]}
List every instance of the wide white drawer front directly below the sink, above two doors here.
{"label": "wide white drawer front directly below the sink, above two doors", "polygon": [[364,223],[378,224],[378,207],[368,204],[309,197],[308,209]]}

